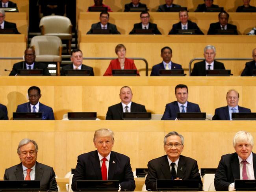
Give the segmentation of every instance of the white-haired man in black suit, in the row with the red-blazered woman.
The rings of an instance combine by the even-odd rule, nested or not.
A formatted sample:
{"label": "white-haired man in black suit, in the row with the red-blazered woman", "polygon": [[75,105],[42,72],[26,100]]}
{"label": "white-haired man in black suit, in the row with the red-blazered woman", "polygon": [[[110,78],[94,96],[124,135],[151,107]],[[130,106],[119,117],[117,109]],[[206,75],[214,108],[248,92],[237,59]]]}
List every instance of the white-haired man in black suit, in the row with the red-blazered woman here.
{"label": "white-haired man in black suit, in the row with the red-blazered woman", "polygon": [[204,48],[204,61],[195,63],[191,76],[206,76],[206,69],[225,69],[223,63],[215,61],[216,48],[213,45],[207,45]]}

